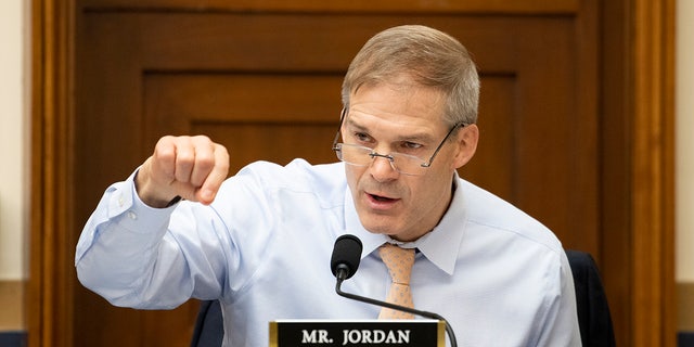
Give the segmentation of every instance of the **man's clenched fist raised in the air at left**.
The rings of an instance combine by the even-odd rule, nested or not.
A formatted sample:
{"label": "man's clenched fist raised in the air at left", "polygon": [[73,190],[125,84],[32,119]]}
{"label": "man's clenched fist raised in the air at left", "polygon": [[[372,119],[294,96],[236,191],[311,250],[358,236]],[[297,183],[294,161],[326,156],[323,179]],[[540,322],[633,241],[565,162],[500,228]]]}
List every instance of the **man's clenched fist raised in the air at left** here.
{"label": "man's clenched fist raised in the air at left", "polygon": [[229,172],[227,149],[205,136],[159,139],[138,172],[136,187],[142,202],[166,207],[176,196],[211,204]]}

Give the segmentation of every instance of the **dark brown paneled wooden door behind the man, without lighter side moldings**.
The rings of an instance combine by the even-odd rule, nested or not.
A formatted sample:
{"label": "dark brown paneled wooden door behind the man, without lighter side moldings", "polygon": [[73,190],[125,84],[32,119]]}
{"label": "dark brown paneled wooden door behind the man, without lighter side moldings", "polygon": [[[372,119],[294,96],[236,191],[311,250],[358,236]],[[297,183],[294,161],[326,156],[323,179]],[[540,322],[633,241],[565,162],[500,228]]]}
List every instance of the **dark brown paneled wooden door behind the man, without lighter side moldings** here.
{"label": "dark brown paneled wooden door behind the man, without lighter side moldings", "polygon": [[[425,24],[459,38],[480,70],[481,138],[461,175],[537,217],[567,248],[590,252],[601,265],[625,260],[603,244],[601,216],[609,207],[600,181],[596,1],[82,0],[74,15],[65,180],[75,184],[64,188],[74,198],[64,201],[61,254],[74,249],[103,190],[163,134],[211,137],[230,150],[232,172],[257,159],[334,162],[349,61],[384,28]],[[620,342],[630,340],[630,304],[620,296],[628,283],[607,282]],[[62,288],[69,323],[57,334],[69,345],[189,343],[194,301],[138,311],[114,308],[76,281]]]}

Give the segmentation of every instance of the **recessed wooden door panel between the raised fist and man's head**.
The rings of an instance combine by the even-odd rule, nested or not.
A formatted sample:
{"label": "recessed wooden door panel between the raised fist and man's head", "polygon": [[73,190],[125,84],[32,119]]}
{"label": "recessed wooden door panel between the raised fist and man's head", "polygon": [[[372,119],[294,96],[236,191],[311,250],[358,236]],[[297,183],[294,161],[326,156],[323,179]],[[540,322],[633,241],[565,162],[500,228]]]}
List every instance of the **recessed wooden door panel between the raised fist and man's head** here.
{"label": "recessed wooden door panel between the raised fist and man's head", "polygon": [[330,163],[339,120],[337,75],[157,75],[145,77],[146,143],[205,134],[230,151],[230,174],[258,160]]}

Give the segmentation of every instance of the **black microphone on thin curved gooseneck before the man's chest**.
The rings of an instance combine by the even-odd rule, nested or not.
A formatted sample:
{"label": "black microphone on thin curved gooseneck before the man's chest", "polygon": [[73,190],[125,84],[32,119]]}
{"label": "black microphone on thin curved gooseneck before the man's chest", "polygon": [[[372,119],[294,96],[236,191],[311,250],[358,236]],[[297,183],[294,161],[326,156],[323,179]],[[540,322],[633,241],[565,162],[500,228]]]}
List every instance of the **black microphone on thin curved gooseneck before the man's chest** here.
{"label": "black microphone on thin curved gooseneck before the man's chest", "polygon": [[343,297],[348,299],[367,303],[371,305],[387,307],[389,309],[403,311],[429,319],[435,319],[439,321],[444,321],[446,324],[446,333],[448,333],[448,338],[451,342],[451,347],[458,347],[458,342],[455,340],[455,334],[453,333],[453,329],[448,323],[448,321],[441,317],[440,314],[427,311],[416,310],[410,307],[395,305],[393,303],[381,301],[376,299],[372,299],[365,296],[359,296],[351,293],[346,293],[340,290],[343,282],[357,272],[359,269],[359,262],[361,261],[361,240],[355,235],[345,234],[337,240],[335,240],[335,246],[333,248],[333,256],[330,260],[331,269],[333,270],[333,274],[337,278],[337,283],[335,284],[335,292]]}

